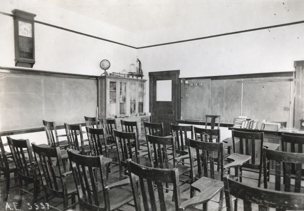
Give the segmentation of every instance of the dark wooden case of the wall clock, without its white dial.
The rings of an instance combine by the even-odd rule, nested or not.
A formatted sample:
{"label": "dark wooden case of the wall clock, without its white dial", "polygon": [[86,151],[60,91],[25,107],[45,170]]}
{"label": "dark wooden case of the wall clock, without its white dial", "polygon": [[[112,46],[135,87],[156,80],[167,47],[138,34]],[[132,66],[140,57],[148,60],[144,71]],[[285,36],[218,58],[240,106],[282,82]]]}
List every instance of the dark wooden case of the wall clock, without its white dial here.
{"label": "dark wooden case of the wall clock, without its white dial", "polygon": [[[35,64],[35,41],[34,41],[34,17],[35,14],[21,10],[13,10],[14,14],[14,40],[15,40],[15,66],[32,68]],[[24,37],[19,35],[19,21],[32,24],[32,36]],[[30,56],[23,56],[21,47],[29,49]]]}

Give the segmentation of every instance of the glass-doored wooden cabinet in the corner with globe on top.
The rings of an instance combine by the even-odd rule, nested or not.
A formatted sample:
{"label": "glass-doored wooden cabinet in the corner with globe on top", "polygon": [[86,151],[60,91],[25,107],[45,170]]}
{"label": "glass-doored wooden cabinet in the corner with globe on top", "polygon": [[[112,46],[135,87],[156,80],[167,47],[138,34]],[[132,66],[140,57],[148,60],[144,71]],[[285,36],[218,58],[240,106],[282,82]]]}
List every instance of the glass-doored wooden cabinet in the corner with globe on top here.
{"label": "glass-doored wooden cabinet in the corner with globe on top", "polygon": [[149,121],[145,115],[145,82],[121,76],[98,77],[98,117],[116,118],[118,130],[121,119],[137,121],[139,133],[143,133],[143,121]]}

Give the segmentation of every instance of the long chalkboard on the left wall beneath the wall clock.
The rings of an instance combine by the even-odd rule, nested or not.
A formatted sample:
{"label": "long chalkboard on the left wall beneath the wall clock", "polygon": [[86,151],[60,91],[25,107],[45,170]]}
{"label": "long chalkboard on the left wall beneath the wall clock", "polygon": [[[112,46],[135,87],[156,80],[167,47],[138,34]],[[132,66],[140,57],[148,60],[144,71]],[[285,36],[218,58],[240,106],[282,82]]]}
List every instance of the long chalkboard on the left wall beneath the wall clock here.
{"label": "long chalkboard on the left wall beneath the wall clock", "polygon": [[0,131],[84,122],[96,106],[96,79],[0,73]]}

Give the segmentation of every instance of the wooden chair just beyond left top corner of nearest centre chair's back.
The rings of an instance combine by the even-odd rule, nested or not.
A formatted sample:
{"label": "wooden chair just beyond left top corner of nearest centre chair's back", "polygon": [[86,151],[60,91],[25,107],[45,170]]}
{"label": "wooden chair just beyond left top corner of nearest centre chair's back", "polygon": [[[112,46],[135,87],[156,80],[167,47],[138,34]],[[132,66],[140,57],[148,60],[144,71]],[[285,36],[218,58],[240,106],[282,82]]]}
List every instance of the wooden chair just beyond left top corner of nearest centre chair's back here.
{"label": "wooden chair just beyond left top corner of nearest centre chair's back", "polygon": [[[139,155],[136,133],[126,133],[114,130],[114,136],[119,156],[120,180],[122,180],[123,177],[127,177],[127,159],[130,158],[140,164],[149,164],[148,157]],[[123,172],[125,172],[125,174],[123,174]]]}

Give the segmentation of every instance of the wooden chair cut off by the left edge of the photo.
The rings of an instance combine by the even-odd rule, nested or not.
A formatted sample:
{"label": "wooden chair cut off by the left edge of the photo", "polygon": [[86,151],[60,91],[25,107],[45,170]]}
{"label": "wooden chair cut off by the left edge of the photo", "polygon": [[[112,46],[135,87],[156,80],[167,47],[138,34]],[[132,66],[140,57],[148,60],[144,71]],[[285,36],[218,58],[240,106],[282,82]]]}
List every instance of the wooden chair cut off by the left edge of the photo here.
{"label": "wooden chair cut off by the left edge of the photo", "polygon": [[[6,152],[4,150],[4,145],[2,142],[2,139],[0,137],[0,172],[1,175],[4,175],[3,182],[6,183],[6,189],[4,194],[4,201],[8,200],[10,187],[11,187],[11,180],[17,179],[17,168],[14,163],[14,160],[12,158],[12,154],[9,152]],[[14,177],[11,178],[11,174],[14,173]],[[16,187],[16,186],[14,186]]]}

